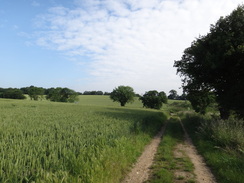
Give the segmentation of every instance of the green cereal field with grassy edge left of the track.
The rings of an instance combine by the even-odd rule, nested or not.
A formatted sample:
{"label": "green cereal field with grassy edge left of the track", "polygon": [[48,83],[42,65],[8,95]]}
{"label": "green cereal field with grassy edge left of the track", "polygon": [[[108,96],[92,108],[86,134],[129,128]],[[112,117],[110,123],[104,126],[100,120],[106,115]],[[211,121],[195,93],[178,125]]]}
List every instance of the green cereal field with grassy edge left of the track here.
{"label": "green cereal field with grassy edge left of the track", "polygon": [[9,183],[119,182],[166,120],[107,96],[0,99],[0,111],[0,182]]}

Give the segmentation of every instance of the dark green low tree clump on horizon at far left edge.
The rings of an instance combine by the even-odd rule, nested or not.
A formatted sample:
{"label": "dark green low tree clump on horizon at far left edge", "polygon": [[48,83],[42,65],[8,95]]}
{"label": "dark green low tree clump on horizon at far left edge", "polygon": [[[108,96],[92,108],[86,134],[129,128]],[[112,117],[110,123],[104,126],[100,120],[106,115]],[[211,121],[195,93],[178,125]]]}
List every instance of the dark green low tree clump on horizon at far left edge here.
{"label": "dark green low tree clump on horizon at far left edge", "polygon": [[0,88],[0,98],[25,99],[23,92],[17,88]]}

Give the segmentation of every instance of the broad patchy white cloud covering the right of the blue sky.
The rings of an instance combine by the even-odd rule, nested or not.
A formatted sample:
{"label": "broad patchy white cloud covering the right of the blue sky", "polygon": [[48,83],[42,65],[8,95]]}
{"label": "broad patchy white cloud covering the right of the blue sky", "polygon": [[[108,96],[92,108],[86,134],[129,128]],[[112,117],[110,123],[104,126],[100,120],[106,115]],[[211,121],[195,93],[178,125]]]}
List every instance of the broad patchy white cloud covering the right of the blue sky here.
{"label": "broad patchy white cloud covering the right of the blue sky", "polygon": [[[183,50],[241,0],[75,0],[39,16],[38,44],[89,58],[86,90],[130,85],[137,92],[181,86],[173,68]],[[79,61],[77,61],[79,63]]]}

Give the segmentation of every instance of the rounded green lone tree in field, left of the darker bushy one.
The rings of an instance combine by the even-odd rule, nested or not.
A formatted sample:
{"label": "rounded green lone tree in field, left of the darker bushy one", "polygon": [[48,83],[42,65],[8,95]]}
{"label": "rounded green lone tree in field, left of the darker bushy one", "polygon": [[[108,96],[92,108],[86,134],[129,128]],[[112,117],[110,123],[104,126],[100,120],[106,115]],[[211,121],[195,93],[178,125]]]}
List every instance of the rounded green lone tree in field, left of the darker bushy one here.
{"label": "rounded green lone tree in field, left of the darker bushy one", "polygon": [[114,102],[119,102],[121,106],[125,106],[128,102],[134,101],[135,92],[130,86],[119,86],[110,94],[110,98]]}

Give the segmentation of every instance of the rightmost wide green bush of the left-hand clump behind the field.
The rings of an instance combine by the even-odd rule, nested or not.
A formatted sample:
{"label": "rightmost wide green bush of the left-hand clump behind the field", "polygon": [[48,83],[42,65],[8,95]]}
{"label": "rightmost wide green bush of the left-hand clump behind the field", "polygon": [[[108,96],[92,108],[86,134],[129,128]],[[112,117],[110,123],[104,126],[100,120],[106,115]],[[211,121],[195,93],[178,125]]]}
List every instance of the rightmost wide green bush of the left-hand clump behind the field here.
{"label": "rightmost wide green bush of the left-hand clump behind the field", "polygon": [[46,98],[53,102],[76,102],[78,101],[78,94],[69,88],[51,88]]}

